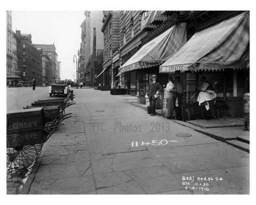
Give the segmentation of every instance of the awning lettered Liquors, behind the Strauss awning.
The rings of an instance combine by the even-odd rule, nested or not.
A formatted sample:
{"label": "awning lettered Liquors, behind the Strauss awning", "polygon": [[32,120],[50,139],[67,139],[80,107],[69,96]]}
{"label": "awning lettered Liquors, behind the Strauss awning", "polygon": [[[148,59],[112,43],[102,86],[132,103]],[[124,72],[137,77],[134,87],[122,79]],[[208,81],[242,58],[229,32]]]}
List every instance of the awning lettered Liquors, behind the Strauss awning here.
{"label": "awning lettered Liquors, behind the Strauss awning", "polygon": [[186,40],[186,23],[182,22],[173,25],[162,34],[144,44],[119,68],[119,71],[126,72],[162,64],[177,52],[185,44]]}

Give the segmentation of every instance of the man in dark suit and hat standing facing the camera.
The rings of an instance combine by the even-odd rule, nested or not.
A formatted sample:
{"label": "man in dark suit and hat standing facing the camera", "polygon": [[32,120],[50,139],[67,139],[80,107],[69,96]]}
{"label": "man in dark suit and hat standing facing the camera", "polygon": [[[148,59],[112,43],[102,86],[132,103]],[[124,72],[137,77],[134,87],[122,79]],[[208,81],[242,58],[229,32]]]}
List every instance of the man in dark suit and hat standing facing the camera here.
{"label": "man in dark suit and hat standing facing the camera", "polygon": [[150,116],[155,115],[155,100],[157,97],[155,97],[155,94],[159,94],[159,92],[162,90],[162,86],[159,84],[159,82],[156,82],[156,75],[153,74],[151,76],[152,82],[149,83],[148,90],[146,92],[145,96],[148,96],[150,107],[151,107],[151,114]]}

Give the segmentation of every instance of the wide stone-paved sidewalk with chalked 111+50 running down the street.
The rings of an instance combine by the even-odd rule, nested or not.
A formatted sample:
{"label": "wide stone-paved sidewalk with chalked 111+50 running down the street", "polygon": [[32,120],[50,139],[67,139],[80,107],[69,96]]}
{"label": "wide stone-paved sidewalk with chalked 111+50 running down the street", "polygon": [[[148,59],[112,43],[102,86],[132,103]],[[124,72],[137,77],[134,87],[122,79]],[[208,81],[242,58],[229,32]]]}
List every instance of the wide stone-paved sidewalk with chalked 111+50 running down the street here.
{"label": "wide stone-paved sidewalk with chalked 111+50 running down the street", "polygon": [[132,96],[74,93],[21,194],[249,193],[247,152],[149,116]]}

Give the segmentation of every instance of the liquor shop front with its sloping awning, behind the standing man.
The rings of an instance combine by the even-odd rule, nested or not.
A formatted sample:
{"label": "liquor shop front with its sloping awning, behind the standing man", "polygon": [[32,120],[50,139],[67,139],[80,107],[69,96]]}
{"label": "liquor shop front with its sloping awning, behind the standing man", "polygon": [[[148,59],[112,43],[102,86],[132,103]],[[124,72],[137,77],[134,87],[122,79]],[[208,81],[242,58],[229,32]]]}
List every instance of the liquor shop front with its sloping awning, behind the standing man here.
{"label": "liquor shop front with its sloping awning, behind the standing man", "polygon": [[134,55],[120,66],[117,76],[124,76],[124,87],[128,94],[136,95],[143,103],[150,76],[158,75],[158,81],[167,82],[165,74],[159,74],[159,65],[178,51],[187,41],[186,23],[178,23],[144,44]]}

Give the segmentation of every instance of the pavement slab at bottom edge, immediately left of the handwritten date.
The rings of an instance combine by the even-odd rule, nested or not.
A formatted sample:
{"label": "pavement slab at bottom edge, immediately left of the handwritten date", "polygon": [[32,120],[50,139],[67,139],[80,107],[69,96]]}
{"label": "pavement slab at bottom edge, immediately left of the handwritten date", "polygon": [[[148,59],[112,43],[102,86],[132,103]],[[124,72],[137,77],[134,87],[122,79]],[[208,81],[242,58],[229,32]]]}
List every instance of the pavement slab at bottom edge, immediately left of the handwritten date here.
{"label": "pavement slab at bottom edge, immediately left of the handwritten date", "polygon": [[182,189],[181,183],[165,167],[155,166],[125,171],[145,191],[145,193],[158,193]]}

